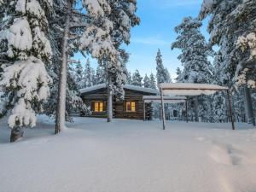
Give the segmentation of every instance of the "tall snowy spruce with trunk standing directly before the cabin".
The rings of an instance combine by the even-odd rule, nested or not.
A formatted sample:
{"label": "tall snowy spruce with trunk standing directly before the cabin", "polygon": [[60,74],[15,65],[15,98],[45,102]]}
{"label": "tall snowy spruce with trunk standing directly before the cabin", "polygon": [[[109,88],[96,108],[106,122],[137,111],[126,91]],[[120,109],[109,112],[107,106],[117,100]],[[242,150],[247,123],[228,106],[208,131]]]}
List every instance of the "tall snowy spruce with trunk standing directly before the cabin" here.
{"label": "tall snowy spruce with trunk standing directly before the cabin", "polygon": [[113,95],[124,96],[123,85],[126,81],[123,49],[121,44],[130,43],[131,27],[138,25],[135,15],[136,0],[124,1],[83,1],[88,15],[93,18],[80,39],[80,49],[105,65],[108,74],[108,122],[112,119]]}

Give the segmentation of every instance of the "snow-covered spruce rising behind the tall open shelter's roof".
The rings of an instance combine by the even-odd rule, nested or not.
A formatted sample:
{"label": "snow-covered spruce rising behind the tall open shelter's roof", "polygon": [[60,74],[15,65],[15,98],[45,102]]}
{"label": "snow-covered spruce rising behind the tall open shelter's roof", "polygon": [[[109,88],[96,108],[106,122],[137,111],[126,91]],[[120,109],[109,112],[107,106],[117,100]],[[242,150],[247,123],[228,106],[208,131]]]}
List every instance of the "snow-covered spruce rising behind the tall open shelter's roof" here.
{"label": "snow-covered spruce rising behind the tall open shelter's roof", "polygon": [[[207,84],[212,81],[212,64],[207,60],[208,55],[212,55],[212,49],[209,49],[206,39],[200,32],[201,26],[200,20],[186,17],[180,25],[175,27],[178,36],[176,42],[172,44],[172,49],[182,51],[182,54],[177,57],[183,64],[183,72],[178,76],[180,82]],[[203,100],[206,97],[200,96],[199,99]],[[195,97],[194,106],[195,121],[198,121],[198,97]],[[200,115],[205,113],[201,110]]]}

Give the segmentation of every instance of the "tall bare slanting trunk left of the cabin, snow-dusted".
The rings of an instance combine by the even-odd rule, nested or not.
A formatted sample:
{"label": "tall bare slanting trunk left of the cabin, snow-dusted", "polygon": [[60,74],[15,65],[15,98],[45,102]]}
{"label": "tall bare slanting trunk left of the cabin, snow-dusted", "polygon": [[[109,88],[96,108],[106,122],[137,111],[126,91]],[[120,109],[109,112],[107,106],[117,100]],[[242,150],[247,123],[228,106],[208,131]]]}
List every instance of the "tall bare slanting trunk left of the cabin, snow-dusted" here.
{"label": "tall bare slanting trunk left of the cabin, snow-dusted", "polygon": [[67,15],[64,28],[64,37],[61,45],[61,66],[59,71],[59,86],[57,98],[57,111],[55,119],[55,134],[65,127],[66,91],[67,91],[67,49],[69,38],[69,23],[73,1],[67,0]]}

